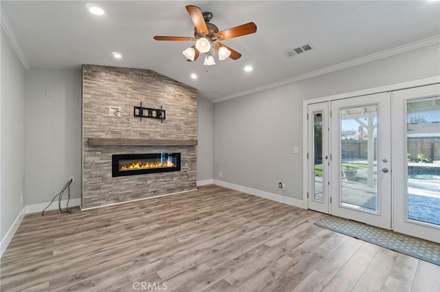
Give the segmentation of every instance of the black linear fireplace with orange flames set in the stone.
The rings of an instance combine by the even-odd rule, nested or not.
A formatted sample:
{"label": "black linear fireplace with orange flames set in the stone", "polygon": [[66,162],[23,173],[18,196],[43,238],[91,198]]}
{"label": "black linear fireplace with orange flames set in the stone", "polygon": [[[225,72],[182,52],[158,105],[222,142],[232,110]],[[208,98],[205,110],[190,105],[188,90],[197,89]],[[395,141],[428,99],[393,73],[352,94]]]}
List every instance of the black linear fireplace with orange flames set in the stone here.
{"label": "black linear fireplace with orange flames set in the stone", "polygon": [[113,154],[111,176],[139,175],[180,170],[180,153]]}

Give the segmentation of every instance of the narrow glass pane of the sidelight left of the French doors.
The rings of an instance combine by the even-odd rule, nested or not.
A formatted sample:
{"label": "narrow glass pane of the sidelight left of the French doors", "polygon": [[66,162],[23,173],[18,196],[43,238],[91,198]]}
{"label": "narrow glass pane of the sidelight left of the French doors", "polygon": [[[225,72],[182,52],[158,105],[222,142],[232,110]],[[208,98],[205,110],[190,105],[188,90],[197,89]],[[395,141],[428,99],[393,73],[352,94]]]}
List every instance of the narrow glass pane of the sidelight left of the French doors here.
{"label": "narrow glass pane of the sidelight left of the French doors", "polygon": [[322,112],[314,113],[314,169],[313,199],[322,202]]}

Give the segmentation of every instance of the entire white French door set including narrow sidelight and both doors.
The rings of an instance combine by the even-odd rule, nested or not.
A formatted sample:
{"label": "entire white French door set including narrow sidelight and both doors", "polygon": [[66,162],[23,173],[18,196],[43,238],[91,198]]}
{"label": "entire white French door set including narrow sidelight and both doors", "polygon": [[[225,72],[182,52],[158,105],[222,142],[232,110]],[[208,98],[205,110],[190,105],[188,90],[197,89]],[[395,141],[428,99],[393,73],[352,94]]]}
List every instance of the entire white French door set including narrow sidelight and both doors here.
{"label": "entire white French door set including narrow sidelight and both doors", "polygon": [[307,113],[308,208],[440,243],[439,84]]}

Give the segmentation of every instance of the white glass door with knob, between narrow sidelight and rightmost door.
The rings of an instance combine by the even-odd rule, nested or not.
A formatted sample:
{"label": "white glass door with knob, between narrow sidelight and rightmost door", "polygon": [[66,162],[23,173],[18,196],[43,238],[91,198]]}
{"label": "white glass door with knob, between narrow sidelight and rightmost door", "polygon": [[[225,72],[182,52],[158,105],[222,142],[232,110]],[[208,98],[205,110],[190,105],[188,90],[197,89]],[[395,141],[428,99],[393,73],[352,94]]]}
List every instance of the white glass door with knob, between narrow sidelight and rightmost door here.
{"label": "white glass door with knob, between narrow sidelight and rightmost door", "polygon": [[331,101],[331,215],[391,229],[389,93]]}

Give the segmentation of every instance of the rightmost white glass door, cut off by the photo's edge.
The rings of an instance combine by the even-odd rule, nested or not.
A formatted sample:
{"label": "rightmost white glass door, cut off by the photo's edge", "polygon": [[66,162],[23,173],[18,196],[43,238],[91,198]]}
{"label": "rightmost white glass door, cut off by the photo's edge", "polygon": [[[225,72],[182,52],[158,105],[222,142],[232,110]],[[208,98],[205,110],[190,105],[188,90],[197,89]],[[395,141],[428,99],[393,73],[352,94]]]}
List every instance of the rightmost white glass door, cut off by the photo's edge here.
{"label": "rightmost white glass door, cut off by the photo's edge", "polygon": [[440,243],[440,85],[393,92],[394,230]]}

